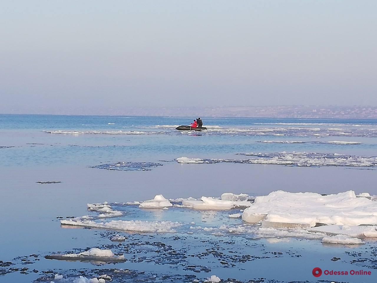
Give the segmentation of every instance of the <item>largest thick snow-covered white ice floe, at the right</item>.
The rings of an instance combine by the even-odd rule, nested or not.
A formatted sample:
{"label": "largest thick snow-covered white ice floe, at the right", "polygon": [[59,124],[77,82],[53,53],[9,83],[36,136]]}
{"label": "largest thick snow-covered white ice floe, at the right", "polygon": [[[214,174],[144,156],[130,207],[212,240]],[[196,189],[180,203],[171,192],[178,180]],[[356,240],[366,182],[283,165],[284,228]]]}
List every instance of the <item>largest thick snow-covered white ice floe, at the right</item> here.
{"label": "largest thick snow-covered white ice floe, at the right", "polygon": [[354,191],[334,195],[276,191],[256,197],[244,210],[242,220],[262,221],[262,226],[274,228],[310,228],[316,223],[377,225],[377,201],[357,198]]}

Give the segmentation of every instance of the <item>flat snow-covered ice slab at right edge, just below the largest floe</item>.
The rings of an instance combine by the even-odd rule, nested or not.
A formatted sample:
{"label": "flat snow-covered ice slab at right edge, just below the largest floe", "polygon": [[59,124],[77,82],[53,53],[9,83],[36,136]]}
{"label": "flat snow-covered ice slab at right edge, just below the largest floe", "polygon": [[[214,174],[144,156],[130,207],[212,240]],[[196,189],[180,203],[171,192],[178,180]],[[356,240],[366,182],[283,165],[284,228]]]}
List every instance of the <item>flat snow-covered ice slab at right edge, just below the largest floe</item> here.
{"label": "flat snow-covered ice slab at right edge, just below the largest floe", "polygon": [[347,235],[356,238],[377,237],[377,226],[349,226],[349,225],[325,225],[313,227],[309,231],[322,232],[328,235]]}

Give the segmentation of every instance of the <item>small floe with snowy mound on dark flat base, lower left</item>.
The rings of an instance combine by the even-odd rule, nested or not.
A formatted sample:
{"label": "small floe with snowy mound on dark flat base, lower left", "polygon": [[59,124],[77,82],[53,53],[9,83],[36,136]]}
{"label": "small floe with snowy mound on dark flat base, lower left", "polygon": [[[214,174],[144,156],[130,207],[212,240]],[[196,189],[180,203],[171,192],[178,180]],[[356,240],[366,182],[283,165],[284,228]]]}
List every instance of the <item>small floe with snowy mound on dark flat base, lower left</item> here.
{"label": "small floe with snowy mound on dark flat base, lower left", "polygon": [[53,254],[46,255],[47,259],[57,260],[99,260],[99,261],[126,261],[124,255],[114,255],[109,249],[92,248],[80,254]]}

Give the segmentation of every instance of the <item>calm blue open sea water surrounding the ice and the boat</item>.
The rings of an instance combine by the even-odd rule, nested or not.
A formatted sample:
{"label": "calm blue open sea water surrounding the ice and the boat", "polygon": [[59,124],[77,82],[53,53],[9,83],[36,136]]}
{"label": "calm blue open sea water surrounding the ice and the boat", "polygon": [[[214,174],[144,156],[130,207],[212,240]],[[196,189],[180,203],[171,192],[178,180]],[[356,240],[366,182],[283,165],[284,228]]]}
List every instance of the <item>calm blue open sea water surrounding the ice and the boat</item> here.
{"label": "calm blue open sea water surrounding the ice and the boat", "polygon": [[[0,260],[14,261],[15,257],[40,254],[40,261],[25,266],[30,270],[37,269],[38,272],[98,268],[90,263],[48,261],[42,257],[57,251],[103,245],[108,241],[100,237],[101,232],[60,227],[56,217],[85,215],[87,203],[146,200],[156,194],[164,194],[166,198],[219,196],[223,192],[263,195],[278,189],[327,194],[353,189],[357,193],[377,194],[374,185],[377,181],[376,171],[368,168],[299,168],[229,163],[181,165],[173,161],[182,156],[237,158],[236,153],[282,151],[374,156],[377,155],[376,120],[203,117],[208,131],[181,132],[174,129],[178,125],[189,125],[192,119],[1,114],[0,225],[3,232],[0,233]],[[303,143],[259,142],[287,140]],[[327,144],[327,141],[353,141],[360,144],[334,145]],[[151,171],[90,168],[118,161],[160,162],[163,165],[152,168]],[[61,183],[35,183],[55,180]],[[182,221],[183,214],[184,211],[179,212]],[[164,220],[175,216],[141,214],[138,217],[141,220]],[[201,219],[204,220],[205,217]],[[218,218],[213,221],[213,225],[216,225]],[[210,225],[208,219],[202,224],[205,223]],[[146,240],[143,238],[146,236],[140,237],[139,240]],[[165,236],[156,237],[161,241],[170,241],[164,239]],[[136,241],[136,238],[135,236],[133,240]],[[185,241],[195,243],[193,238]],[[243,241],[240,240],[240,243],[244,243]],[[192,246],[196,245],[194,243]],[[260,243],[264,246],[259,246]],[[181,245],[184,245],[184,241]],[[367,247],[373,246],[373,243],[369,243]],[[345,253],[347,248],[325,247],[315,241],[292,240],[289,243],[272,244],[262,240],[255,247],[247,252],[263,256],[263,249],[268,252],[294,250],[302,257],[255,260],[238,263],[236,268],[228,269],[217,263],[208,263],[208,260],[203,260],[202,264],[212,265],[211,274],[221,275],[222,278],[246,280],[265,277],[282,281],[313,280],[311,269],[321,264],[329,268],[357,267],[350,264],[352,258],[348,258]],[[352,251],[359,252],[365,248],[366,246],[352,248]],[[333,263],[329,261],[333,256],[344,257],[346,260]],[[271,271],[268,267],[270,265],[279,268]],[[138,265],[128,262],[119,268],[159,274],[184,272],[179,268],[172,269],[172,266],[146,263]],[[247,270],[260,272],[250,276]],[[40,277],[38,272],[0,275],[0,282],[31,282]],[[293,272],[296,272],[295,276],[291,276]],[[201,273],[198,278],[211,274]],[[338,280],[340,279],[349,281],[346,277]],[[372,282],[370,278],[352,278],[352,282],[363,281]]]}

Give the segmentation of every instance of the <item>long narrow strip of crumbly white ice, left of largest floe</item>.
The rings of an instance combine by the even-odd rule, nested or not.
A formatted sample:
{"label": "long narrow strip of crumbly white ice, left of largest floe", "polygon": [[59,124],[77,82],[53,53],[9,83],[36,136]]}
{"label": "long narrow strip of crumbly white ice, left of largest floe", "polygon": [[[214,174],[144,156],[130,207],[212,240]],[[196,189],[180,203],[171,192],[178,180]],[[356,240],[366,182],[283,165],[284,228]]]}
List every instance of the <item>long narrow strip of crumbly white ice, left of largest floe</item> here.
{"label": "long narrow strip of crumbly white ice, left of largest floe", "polygon": [[179,222],[172,221],[139,221],[139,220],[112,220],[110,222],[95,222],[92,220],[69,219],[61,220],[62,225],[83,226],[92,228],[115,229],[135,232],[161,232],[173,233],[173,228],[182,226]]}

